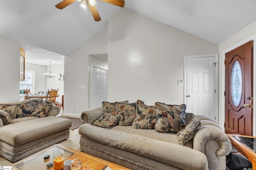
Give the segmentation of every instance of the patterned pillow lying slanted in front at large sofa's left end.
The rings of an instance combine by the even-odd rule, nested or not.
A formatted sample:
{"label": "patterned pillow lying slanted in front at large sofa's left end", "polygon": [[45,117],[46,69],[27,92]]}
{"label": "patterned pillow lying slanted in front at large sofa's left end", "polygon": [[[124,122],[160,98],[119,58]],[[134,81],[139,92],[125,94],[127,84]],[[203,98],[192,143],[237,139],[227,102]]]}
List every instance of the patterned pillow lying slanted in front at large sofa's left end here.
{"label": "patterned pillow lying slanted in front at large sofa's left end", "polygon": [[108,112],[104,112],[102,115],[100,115],[100,117],[98,117],[91,124],[98,127],[111,129],[118,123],[119,119],[120,117],[116,117]]}

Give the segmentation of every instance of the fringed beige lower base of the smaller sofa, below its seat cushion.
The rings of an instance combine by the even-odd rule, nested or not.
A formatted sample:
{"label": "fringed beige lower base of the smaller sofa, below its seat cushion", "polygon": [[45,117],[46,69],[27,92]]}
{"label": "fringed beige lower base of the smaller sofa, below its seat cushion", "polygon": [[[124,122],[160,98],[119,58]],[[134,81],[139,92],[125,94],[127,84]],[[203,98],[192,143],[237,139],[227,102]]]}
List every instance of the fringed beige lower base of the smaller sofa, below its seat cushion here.
{"label": "fringed beige lower base of the smaller sofa, below its seat cushion", "polygon": [[12,146],[8,143],[5,143],[4,141],[0,141],[0,155],[10,160],[11,162],[16,162],[68,139],[69,133],[69,128],[64,129],[62,131],[47,135],[34,141],[30,141],[28,143],[24,143],[19,146]]}

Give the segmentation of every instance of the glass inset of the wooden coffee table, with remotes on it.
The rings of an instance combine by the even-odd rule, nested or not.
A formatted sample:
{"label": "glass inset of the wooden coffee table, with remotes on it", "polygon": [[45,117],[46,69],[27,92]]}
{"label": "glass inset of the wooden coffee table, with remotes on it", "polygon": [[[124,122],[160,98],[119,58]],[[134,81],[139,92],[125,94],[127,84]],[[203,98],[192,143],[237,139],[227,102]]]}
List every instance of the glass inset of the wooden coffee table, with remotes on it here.
{"label": "glass inset of the wooden coffee table, with remotes on it", "polygon": [[[38,152],[38,154],[36,154],[35,156],[32,156],[31,158],[14,164],[13,167],[18,170],[46,170],[46,165],[53,162],[54,155],[58,153],[64,153],[64,159],[74,154],[73,152],[70,152],[62,148],[53,147],[44,152]],[[44,156],[47,155],[50,155],[50,159],[44,162]]]}

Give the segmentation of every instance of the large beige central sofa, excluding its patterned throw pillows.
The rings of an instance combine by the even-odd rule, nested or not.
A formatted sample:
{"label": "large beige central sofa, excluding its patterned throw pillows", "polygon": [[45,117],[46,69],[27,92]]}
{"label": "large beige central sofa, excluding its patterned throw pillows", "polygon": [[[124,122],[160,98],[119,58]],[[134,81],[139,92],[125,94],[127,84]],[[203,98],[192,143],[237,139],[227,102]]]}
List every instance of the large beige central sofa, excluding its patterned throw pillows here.
{"label": "large beige central sofa, excluding its patterned throw pillows", "polygon": [[176,133],[134,129],[116,125],[104,129],[91,125],[103,113],[102,107],[82,112],[79,127],[80,149],[88,154],[133,170],[220,170],[226,169],[225,155],[231,150],[227,135],[208,116],[186,113],[201,121],[192,141],[179,145]]}

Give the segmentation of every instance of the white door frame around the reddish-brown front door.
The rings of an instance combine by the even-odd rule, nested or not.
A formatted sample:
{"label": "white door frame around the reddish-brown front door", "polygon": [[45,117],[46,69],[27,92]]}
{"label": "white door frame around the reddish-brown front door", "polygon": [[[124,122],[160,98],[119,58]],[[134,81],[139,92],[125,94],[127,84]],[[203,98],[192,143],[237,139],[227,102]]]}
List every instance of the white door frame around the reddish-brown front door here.
{"label": "white door frame around the reddish-brown front door", "polygon": [[[244,39],[243,41],[241,41],[241,42],[239,42],[239,43],[237,43],[236,45],[233,45],[232,47],[230,47],[230,48],[228,48],[228,49],[226,49],[226,50],[224,50],[223,51],[223,57],[222,57],[222,69],[223,69],[223,74],[224,74],[224,76],[223,76],[223,84],[220,84],[220,86],[222,86],[222,89],[225,91],[225,59],[226,59],[226,57],[225,57],[225,55],[226,55],[226,53],[228,53],[229,51],[232,51],[233,49],[236,49],[237,47],[240,47],[241,45],[243,45],[243,44],[245,44],[245,43],[247,43],[248,41],[254,41],[254,40],[256,40],[256,35],[253,35],[253,36],[251,36],[251,37],[249,37],[249,38],[247,38],[247,39]],[[256,81],[256,48],[253,48],[253,70],[252,70],[252,72],[253,72],[253,80],[252,80],[252,82],[253,82],[253,84],[252,84],[252,86],[253,86],[253,97],[254,97],[254,100],[253,100],[253,102],[252,102],[252,104],[253,104],[253,106],[255,107],[256,105],[256,103],[255,103],[255,100],[256,100],[256,86],[254,86],[256,83],[255,83],[255,81]],[[222,128],[222,130],[223,131],[225,131],[225,126],[224,126],[224,123],[225,123],[225,96],[224,96],[224,91],[223,91],[223,93],[220,95],[220,98],[222,98],[222,101],[224,101],[224,102],[222,102],[220,105],[222,106],[221,108],[222,108],[222,110],[220,111],[221,113],[222,113],[222,115],[220,115],[220,117],[222,118],[222,122],[220,122],[220,124],[219,124],[219,126]],[[255,116],[255,113],[256,113],[256,109],[253,109],[252,110],[252,115],[253,115],[253,122],[256,122],[256,116]],[[253,123],[253,127],[252,127],[252,135],[253,136],[255,136],[256,135],[256,125],[255,125],[255,123]]]}

